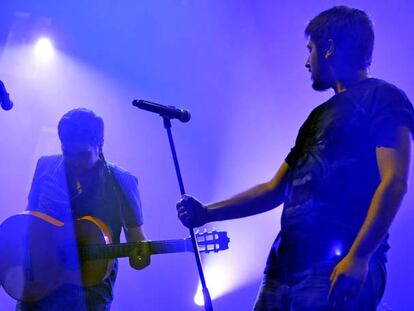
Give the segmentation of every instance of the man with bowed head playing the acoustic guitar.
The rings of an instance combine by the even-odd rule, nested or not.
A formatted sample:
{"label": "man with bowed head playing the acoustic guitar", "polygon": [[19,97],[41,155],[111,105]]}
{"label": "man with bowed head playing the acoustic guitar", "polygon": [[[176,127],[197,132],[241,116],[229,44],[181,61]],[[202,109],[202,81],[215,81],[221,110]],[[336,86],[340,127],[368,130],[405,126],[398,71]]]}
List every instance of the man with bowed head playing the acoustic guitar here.
{"label": "man with bowed head playing the acoustic guitar", "polygon": [[[119,243],[121,228],[128,242],[146,240],[137,179],[103,157],[102,118],[87,109],[71,110],[61,118],[58,133],[62,155],[39,159],[27,210],[65,225],[84,216],[95,217],[108,228],[113,243]],[[131,251],[130,265],[145,268],[149,254],[143,243]],[[115,262],[96,285],[64,284],[39,301],[18,303],[17,310],[109,310],[116,274]]]}

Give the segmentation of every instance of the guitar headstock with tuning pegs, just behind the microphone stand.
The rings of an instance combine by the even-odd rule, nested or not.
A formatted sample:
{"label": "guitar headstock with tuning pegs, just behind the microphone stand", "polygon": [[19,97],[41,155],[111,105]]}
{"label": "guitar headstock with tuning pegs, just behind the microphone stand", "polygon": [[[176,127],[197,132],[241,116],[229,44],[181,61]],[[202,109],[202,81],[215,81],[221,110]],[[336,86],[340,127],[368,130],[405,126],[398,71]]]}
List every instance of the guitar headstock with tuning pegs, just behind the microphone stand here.
{"label": "guitar headstock with tuning pegs, just behind the microphone stand", "polygon": [[[200,253],[217,253],[229,248],[230,239],[226,231],[196,232],[195,236]],[[188,241],[191,243],[190,239]]]}

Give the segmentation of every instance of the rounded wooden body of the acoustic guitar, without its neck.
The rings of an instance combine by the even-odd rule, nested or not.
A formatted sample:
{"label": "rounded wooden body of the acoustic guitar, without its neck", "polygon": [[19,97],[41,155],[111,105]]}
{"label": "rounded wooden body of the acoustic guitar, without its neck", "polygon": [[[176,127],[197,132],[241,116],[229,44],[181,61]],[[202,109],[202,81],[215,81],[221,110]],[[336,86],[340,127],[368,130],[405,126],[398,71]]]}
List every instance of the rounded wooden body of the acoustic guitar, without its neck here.
{"label": "rounded wooden body of the acoustic guitar, without its neck", "polygon": [[95,285],[110,273],[113,260],[80,260],[78,247],[109,243],[109,230],[90,216],[73,225],[34,211],[12,216],[0,226],[0,283],[26,302],[65,283]]}

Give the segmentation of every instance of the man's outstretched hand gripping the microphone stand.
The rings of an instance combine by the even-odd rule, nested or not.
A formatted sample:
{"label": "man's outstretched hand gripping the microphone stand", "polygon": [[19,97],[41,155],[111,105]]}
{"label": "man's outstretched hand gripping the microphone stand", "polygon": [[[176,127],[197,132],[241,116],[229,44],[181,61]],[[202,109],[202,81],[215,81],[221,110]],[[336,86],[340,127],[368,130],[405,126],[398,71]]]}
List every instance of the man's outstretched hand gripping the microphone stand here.
{"label": "man's outstretched hand gripping the microphone stand", "polygon": [[178,218],[188,228],[201,227],[208,222],[207,207],[195,198],[183,195],[177,203]]}

